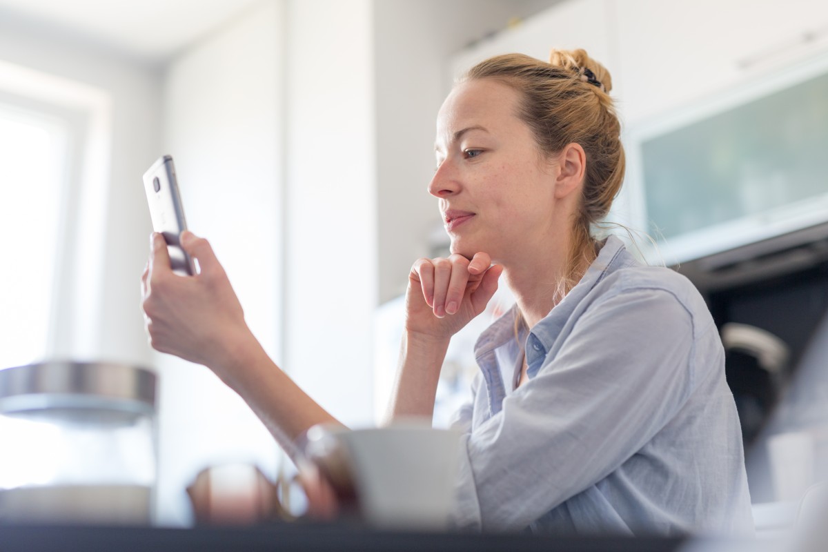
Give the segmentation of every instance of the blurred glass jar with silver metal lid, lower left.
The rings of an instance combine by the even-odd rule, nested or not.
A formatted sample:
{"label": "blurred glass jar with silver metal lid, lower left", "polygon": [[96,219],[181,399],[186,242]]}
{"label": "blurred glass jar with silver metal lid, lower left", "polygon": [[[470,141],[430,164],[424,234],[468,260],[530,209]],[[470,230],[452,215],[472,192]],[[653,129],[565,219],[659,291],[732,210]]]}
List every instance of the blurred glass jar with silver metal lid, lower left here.
{"label": "blurred glass jar with silver metal lid, lower left", "polygon": [[103,362],[0,370],[0,520],[149,525],[156,375]]}

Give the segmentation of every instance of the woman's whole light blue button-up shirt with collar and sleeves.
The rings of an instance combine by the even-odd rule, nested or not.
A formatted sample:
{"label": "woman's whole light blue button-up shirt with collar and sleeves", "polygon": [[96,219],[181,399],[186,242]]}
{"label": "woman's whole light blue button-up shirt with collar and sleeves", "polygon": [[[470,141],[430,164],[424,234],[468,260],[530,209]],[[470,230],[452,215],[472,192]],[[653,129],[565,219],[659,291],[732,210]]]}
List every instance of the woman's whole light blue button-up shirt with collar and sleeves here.
{"label": "woman's whole light blue button-up shirt with collar and sleeves", "polygon": [[457,526],[753,534],[724,349],[690,281],[610,237],[531,331],[516,335],[516,312],[480,336],[474,396],[455,416]]}

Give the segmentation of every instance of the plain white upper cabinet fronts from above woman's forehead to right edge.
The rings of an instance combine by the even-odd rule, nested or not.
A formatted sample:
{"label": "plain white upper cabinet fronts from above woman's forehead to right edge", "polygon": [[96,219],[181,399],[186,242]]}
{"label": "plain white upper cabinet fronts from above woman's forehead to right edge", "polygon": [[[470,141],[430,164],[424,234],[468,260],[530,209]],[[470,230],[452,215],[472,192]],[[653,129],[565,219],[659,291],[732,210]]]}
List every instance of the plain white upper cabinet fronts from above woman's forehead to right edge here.
{"label": "plain white upper cabinet fronts from above woman's forehead to right edge", "polygon": [[613,75],[628,126],[828,50],[826,0],[566,0],[463,50],[480,60],[583,48]]}

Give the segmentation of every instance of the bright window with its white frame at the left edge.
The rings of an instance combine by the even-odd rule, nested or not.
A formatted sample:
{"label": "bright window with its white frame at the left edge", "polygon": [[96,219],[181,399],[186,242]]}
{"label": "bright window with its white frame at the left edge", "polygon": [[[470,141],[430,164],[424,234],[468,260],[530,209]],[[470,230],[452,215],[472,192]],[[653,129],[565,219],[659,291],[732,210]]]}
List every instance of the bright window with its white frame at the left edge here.
{"label": "bright window with its white frame at the left edge", "polygon": [[0,60],[0,369],[94,351],[111,103]]}

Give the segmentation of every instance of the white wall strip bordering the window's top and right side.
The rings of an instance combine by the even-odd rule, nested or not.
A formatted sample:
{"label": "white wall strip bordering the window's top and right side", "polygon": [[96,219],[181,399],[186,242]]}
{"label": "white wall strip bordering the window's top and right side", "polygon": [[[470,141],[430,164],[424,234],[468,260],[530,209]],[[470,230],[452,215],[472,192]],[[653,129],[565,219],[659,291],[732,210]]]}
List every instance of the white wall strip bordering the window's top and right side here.
{"label": "white wall strip bordering the window's top and right side", "polygon": [[[138,309],[138,283],[150,225],[140,175],[156,155],[160,138],[160,74],[76,36],[30,25],[12,17],[0,18],[0,59],[70,79],[111,99],[108,132],[112,143],[104,148],[111,156],[101,160],[105,180],[97,198],[101,205],[96,213],[83,213],[100,217],[99,238],[83,245],[98,258],[94,265],[79,270],[68,258],[61,275],[71,278],[78,273],[89,278],[95,283],[95,296],[91,302],[75,305],[71,295],[78,286],[84,287],[84,281],[60,296],[55,353],[147,365],[150,353]],[[70,256],[74,254],[73,249]],[[97,324],[90,328],[89,320]],[[84,339],[75,339],[79,334]]]}

